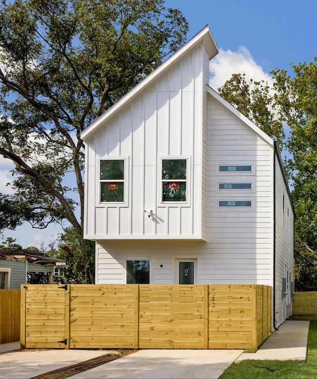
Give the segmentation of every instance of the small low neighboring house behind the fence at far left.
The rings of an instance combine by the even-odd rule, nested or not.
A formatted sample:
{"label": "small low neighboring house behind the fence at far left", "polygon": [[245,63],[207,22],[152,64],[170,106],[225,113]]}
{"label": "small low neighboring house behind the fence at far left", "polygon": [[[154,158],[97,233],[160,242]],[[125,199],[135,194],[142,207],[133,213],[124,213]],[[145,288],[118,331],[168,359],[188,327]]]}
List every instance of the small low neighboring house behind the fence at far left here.
{"label": "small low neighboring house behind the fence at far left", "polygon": [[21,284],[27,282],[27,274],[31,272],[49,273],[49,283],[52,284],[53,275],[65,264],[61,259],[34,252],[0,250],[0,289],[19,290]]}

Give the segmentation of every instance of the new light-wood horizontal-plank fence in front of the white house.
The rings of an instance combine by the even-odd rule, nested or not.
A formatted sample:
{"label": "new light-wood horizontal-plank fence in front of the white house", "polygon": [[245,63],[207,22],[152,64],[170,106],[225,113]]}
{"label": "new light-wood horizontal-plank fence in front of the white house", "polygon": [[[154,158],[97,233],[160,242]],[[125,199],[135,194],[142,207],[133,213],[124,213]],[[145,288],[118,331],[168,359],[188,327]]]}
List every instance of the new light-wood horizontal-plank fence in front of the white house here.
{"label": "new light-wood horizontal-plank fence in front of the white house", "polygon": [[258,285],[27,285],[26,348],[246,349],[271,331]]}

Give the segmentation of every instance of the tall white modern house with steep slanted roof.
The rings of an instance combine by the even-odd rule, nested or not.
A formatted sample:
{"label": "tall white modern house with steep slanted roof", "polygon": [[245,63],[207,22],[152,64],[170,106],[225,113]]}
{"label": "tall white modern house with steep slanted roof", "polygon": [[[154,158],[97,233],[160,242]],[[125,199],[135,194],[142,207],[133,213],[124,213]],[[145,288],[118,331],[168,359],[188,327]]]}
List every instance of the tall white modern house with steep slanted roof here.
{"label": "tall white modern house with steep slanted roof", "polygon": [[209,86],[209,27],[82,139],[96,284],[273,287],[292,312],[294,209],[277,144]]}

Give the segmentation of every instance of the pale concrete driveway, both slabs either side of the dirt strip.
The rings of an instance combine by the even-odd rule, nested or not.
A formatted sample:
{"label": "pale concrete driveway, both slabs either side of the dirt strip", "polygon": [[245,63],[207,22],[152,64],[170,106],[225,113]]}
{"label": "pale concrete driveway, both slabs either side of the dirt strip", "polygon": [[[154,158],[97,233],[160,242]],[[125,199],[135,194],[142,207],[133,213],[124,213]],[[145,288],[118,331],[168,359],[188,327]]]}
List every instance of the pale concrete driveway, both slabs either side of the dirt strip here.
{"label": "pale concrete driveway, both slabs either side of the dirt strip", "polygon": [[[1,379],[31,379],[115,350],[19,350],[0,354]],[[138,350],[69,378],[217,379],[243,350]]]}

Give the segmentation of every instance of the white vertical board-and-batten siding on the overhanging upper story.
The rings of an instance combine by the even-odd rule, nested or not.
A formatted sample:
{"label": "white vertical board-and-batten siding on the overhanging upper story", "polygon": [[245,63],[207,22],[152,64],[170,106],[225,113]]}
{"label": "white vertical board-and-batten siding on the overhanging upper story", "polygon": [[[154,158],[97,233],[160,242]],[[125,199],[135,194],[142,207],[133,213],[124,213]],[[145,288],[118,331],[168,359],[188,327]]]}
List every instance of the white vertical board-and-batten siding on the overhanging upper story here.
{"label": "white vertical board-and-batten siding on the overhanging upper story", "polygon": [[[202,44],[122,106],[86,141],[85,238],[204,239],[201,126],[203,117],[206,123],[202,93],[207,61]],[[164,157],[188,158],[188,204],[160,203],[160,160]],[[103,158],[125,158],[128,193],[124,204],[99,202],[99,161]],[[153,219],[145,213],[151,210]],[[206,212],[204,218],[206,232]]]}

